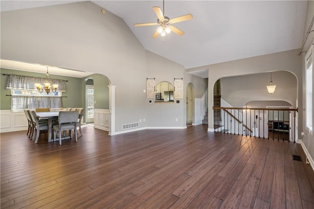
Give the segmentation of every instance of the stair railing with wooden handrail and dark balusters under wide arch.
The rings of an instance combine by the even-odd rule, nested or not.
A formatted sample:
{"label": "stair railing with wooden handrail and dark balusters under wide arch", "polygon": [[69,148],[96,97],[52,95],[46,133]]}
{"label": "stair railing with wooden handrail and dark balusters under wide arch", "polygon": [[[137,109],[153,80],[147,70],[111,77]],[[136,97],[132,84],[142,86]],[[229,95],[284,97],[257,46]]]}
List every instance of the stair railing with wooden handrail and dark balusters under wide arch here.
{"label": "stair railing with wooden handrail and dark balusters under wide arch", "polygon": [[212,109],[217,113],[220,111],[220,115],[216,113],[217,121],[214,121],[217,132],[296,142],[298,109],[214,106]]}

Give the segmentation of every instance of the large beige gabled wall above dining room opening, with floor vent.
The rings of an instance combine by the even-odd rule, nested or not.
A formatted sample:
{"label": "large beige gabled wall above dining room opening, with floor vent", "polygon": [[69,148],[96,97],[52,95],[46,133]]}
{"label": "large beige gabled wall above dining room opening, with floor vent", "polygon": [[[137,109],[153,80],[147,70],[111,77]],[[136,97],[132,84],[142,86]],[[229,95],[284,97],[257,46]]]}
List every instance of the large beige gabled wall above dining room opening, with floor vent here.
{"label": "large beige gabled wall above dining room opening, with floor vent", "polygon": [[[152,126],[185,127],[183,100],[162,105],[159,120],[143,93],[148,77],[184,80],[183,66],[147,52],[121,18],[109,11],[104,15],[101,9],[91,1],[82,1],[1,12],[1,59],[104,75],[115,90],[111,102],[115,132],[122,131],[123,124],[144,118],[153,118],[148,122]],[[163,123],[162,116],[169,122]],[[140,128],[148,124],[142,122]]]}

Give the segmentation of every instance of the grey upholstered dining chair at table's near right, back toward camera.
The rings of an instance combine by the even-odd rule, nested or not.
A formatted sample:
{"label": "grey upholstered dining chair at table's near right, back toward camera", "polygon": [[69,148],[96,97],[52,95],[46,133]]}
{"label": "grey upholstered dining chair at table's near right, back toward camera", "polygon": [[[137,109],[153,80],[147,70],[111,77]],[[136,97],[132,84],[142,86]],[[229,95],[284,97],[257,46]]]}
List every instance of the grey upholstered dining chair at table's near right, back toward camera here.
{"label": "grey upholstered dining chair at table's near right, back toward camera", "polygon": [[52,127],[53,140],[56,140],[56,132],[59,135],[59,144],[61,145],[61,131],[70,131],[70,138],[72,138],[72,130],[74,130],[75,141],[78,141],[78,111],[60,111],[58,117],[58,124]]}

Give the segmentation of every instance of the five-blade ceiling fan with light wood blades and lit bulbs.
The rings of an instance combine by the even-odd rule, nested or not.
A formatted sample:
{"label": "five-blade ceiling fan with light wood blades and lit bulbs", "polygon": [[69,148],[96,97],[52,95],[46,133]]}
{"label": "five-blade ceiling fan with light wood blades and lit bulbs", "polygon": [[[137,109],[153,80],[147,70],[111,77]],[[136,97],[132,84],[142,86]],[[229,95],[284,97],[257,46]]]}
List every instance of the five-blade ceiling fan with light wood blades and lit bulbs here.
{"label": "five-blade ceiling fan with light wood blades and lit bulbs", "polygon": [[178,35],[183,35],[184,32],[180,29],[178,29],[175,26],[171,26],[171,24],[179,23],[187,20],[191,20],[193,16],[191,14],[183,15],[177,18],[170,19],[169,17],[163,16],[164,14],[164,7],[165,7],[165,1],[163,0],[163,12],[161,11],[160,7],[154,6],[153,9],[158,17],[157,23],[137,23],[134,24],[135,27],[137,26],[157,26],[156,32],[152,36],[152,38],[157,38],[157,36],[160,34],[162,37],[165,37],[166,34],[169,34],[171,31]]}

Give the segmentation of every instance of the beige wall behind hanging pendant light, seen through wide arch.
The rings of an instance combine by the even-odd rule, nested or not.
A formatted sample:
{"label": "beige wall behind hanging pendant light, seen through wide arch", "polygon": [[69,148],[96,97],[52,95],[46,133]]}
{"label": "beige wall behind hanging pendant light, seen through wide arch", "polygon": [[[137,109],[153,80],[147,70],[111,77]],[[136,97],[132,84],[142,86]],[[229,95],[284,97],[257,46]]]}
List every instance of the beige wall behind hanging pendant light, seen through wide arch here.
{"label": "beige wall behind hanging pendant light, seen through wide arch", "polygon": [[250,101],[280,100],[296,108],[296,77],[287,71],[276,71],[272,73],[272,79],[276,90],[269,94],[266,85],[269,84],[270,73],[221,78],[221,98],[234,107],[242,107]]}

